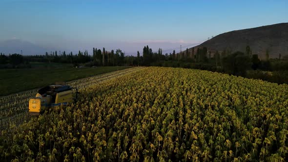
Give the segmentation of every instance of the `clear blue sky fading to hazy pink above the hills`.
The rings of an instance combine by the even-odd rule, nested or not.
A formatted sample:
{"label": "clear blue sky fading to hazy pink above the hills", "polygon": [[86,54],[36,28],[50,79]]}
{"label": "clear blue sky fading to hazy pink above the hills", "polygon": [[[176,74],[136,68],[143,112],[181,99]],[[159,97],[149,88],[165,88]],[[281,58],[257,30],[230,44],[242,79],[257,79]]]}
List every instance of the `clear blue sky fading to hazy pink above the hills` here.
{"label": "clear blue sky fading to hazy pink above the hills", "polygon": [[288,0],[0,0],[0,41],[47,51],[105,47],[135,55],[148,45],[171,52],[224,32],[288,22],[287,8]]}

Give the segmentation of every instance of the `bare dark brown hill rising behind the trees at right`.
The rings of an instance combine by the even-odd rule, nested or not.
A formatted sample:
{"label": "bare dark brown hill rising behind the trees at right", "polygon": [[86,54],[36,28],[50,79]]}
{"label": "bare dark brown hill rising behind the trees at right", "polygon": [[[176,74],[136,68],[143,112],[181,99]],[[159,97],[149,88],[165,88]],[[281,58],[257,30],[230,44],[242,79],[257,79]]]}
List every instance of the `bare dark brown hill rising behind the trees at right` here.
{"label": "bare dark brown hill rising behind the trees at right", "polygon": [[[288,23],[226,32],[194,48],[197,51],[199,47],[207,47],[213,56],[216,50],[219,52],[228,50],[232,53],[246,52],[247,45],[250,46],[252,54],[258,54],[260,59],[265,58],[267,50],[270,58],[278,58],[279,54],[281,56],[288,55]],[[189,50],[191,51],[191,49]]]}

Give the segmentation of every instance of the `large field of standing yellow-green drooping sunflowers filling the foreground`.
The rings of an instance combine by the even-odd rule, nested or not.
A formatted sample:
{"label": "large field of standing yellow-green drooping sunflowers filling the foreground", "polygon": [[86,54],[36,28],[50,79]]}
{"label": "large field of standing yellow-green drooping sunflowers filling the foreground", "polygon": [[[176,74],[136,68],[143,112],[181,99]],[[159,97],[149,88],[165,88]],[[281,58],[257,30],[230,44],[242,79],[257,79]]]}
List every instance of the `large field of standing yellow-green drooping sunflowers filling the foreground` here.
{"label": "large field of standing yellow-green drooping sunflowers filling the foreground", "polygon": [[71,82],[77,103],[10,124],[0,160],[288,161],[287,84],[182,68],[121,72]]}

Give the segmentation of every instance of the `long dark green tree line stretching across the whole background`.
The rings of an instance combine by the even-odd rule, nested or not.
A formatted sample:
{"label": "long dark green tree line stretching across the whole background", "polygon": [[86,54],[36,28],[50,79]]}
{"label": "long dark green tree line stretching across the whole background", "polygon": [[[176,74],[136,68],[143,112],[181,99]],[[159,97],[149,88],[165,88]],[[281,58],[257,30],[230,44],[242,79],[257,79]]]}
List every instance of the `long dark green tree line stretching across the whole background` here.
{"label": "long dark green tree line stretching across the whole background", "polygon": [[[45,55],[22,56],[19,54],[0,54],[0,65],[11,64],[12,67],[19,67],[20,64],[29,65],[29,62],[59,62],[72,63],[74,66],[165,66],[195,68],[209,71],[223,72],[231,75],[243,76],[247,78],[263,79],[272,82],[288,82],[286,73],[288,71],[288,59],[270,59],[269,51],[266,51],[265,59],[260,60],[258,55],[252,54],[249,46],[246,52],[234,52],[231,50],[216,51],[211,54],[206,47],[195,49],[186,48],[185,51],[163,54],[161,48],[153,52],[148,45],[143,48],[143,55],[137,51],[137,56],[126,55],[121,49],[107,51],[105,48],[93,48],[92,55],[88,51],[79,51],[66,54],[65,51],[46,52]],[[0,66],[5,67],[5,66]],[[27,67],[27,66],[23,66]],[[250,71],[249,71],[250,70]],[[252,72],[251,72],[252,70]],[[253,70],[255,72],[253,72]],[[260,71],[259,71],[260,70]],[[247,71],[249,73],[247,74]],[[261,71],[277,71],[273,76],[264,74]],[[283,73],[285,72],[285,74]],[[272,79],[271,78],[275,78]],[[280,79],[279,79],[280,78]],[[283,79],[285,78],[285,79]]]}

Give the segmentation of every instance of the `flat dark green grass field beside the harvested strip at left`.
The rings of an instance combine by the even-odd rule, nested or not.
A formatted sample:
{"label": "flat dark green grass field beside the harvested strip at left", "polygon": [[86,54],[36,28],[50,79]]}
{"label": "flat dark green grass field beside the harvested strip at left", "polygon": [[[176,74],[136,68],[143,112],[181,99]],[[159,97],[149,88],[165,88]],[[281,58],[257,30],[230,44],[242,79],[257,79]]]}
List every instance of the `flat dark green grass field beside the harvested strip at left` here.
{"label": "flat dark green grass field beside the harvested strip at left", "polygon": [[0,96],[39,88],[55,82],[72,81],[125,68],[128,67],[0,69]]}

